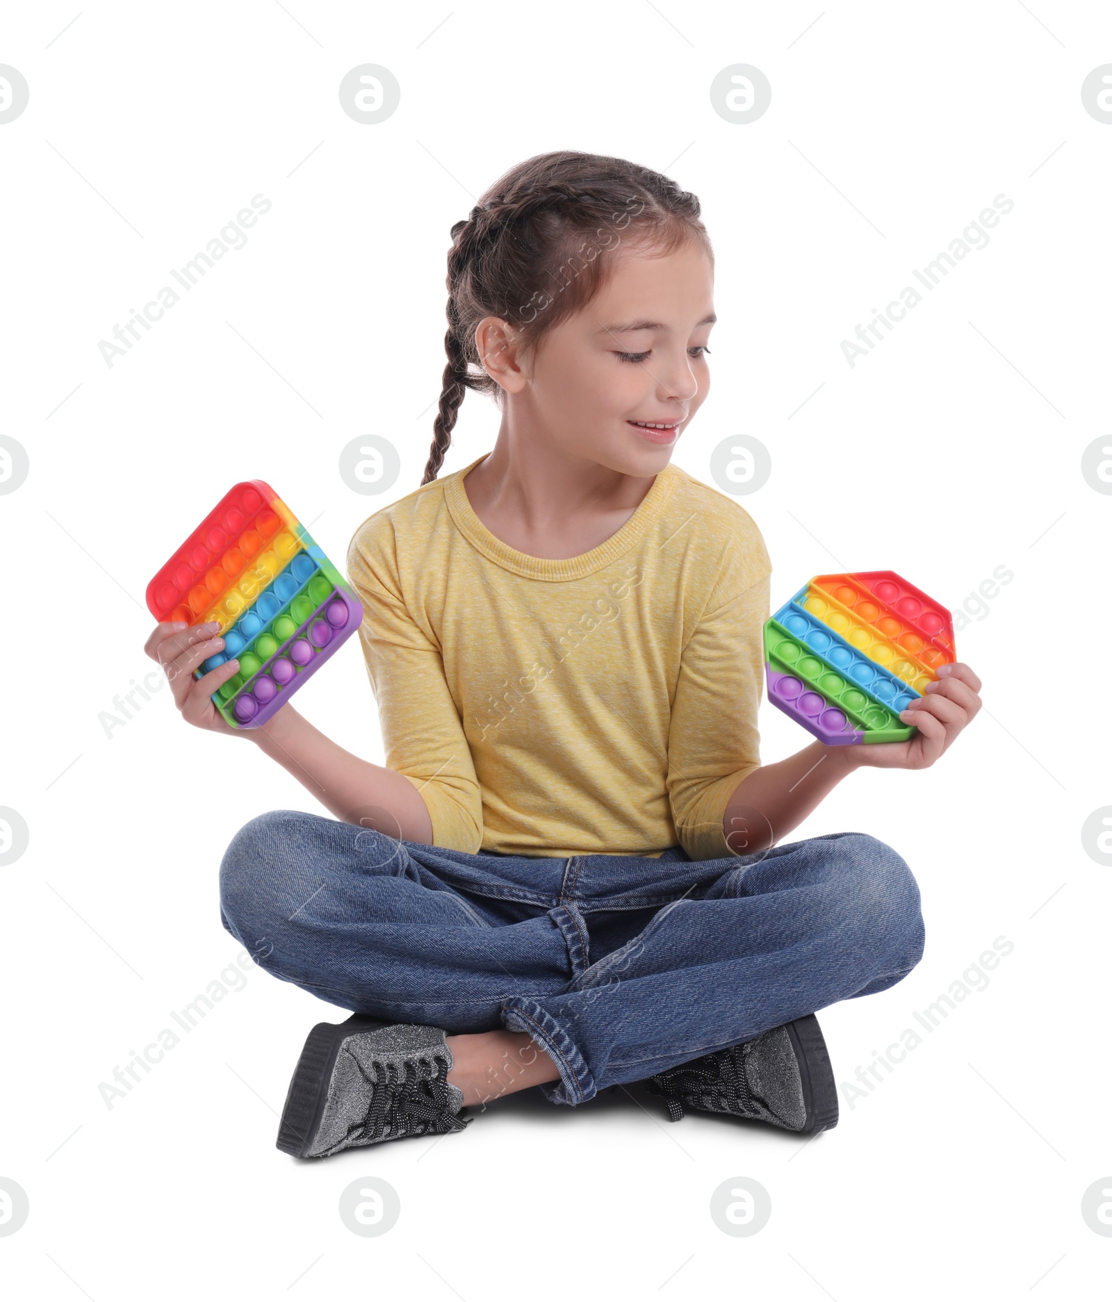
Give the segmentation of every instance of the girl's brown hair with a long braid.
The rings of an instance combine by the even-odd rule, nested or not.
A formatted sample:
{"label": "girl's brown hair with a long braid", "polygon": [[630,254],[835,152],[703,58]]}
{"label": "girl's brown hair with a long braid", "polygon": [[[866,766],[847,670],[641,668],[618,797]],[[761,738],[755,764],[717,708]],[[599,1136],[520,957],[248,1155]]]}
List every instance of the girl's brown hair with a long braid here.
{"label": "girl's brown hair with a long braid", "polygon": [[500,393],[475,348],[475,327],[500,316],[526,348],[599,292],[599,254],[633,241],[667,253],[697,236],[711,253],[699,201],[660,172],[625,159],[561,150],[509,169],[452,227],[448,332],[432,449],[435,479],[467,389]]}

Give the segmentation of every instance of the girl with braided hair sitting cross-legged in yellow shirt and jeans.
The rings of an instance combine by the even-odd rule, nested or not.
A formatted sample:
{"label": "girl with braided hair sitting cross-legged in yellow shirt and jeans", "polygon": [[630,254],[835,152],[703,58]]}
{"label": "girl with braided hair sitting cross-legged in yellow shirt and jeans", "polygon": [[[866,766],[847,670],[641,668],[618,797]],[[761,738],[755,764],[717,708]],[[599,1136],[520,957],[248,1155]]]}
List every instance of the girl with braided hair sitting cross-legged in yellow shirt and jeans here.
{"label": "girl with braided hair sitting cross-legged in yellow shirt and jeans", "polygon": [[[348,555],[385,767],[290,706],[236,733],[339,819],[257,818],[220,870],[232,935],[354,1012],[309,1035],[286,1152],[643,1079],[673,1120],[831,1128],[815,1009],[922,956],[895,850],[777,842],[853,769],[932,764],[980,681],[951,665],[904,712],[908,742],[760,764],[768,555],[671,465],[707,396],[712,285],[695,197],[620,159],[530,159],[452,228],[422,487]],[[439,479],[467,389],[497,400],[497,440]],[[147,650],[186,721],[230,732],[210,697],[238,661],[191,677],[214,631],[159,625]]]}

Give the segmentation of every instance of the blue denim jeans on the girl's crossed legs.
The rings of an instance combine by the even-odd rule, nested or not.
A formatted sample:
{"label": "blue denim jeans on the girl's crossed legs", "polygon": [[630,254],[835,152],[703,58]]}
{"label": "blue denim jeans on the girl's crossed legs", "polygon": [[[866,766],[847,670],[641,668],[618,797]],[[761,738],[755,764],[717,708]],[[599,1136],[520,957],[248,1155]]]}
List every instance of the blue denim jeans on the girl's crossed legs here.
{"label": "blue denim jeans on the girl's crossed legs", "polygon": [[262,966],[331,1004],[527,1031],[565,1104],[887,990],[923,953],[910,868],[859,832],[725,859],[530,858],[276,811],[228,846],[220,906]]}

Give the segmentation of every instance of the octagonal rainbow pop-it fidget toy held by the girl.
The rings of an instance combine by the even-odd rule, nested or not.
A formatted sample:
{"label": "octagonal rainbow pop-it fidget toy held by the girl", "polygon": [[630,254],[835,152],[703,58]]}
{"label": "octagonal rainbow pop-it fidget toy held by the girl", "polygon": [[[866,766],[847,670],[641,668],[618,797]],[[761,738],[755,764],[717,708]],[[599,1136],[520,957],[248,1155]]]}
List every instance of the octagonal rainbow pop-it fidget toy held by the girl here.
{"label": "octagonal rainbow pop-it fidget toy held by the girl", "polygon": [[764,625],[768,699],[827,746],[906,741],[900,711],[954,659],[949,611],[892,570],[819,574]]}

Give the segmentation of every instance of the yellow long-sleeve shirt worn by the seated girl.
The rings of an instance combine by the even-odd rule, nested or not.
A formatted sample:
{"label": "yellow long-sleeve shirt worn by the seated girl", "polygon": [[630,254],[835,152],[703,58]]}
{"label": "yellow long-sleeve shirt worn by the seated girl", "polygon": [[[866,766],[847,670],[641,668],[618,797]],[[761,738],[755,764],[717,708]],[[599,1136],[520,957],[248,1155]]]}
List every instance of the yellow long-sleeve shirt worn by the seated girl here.
{"label": "yellow long-sleeve shirt worn by the seated girl", "polygon": [[723,812],[760,763],[757,525],[669,465],[600,547],[526,556],[471,509],[482,460],[376,512],[348,551],[385,763],[434,844],[728,855]]}

